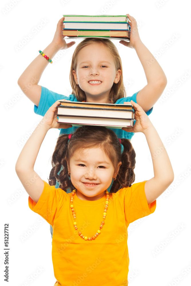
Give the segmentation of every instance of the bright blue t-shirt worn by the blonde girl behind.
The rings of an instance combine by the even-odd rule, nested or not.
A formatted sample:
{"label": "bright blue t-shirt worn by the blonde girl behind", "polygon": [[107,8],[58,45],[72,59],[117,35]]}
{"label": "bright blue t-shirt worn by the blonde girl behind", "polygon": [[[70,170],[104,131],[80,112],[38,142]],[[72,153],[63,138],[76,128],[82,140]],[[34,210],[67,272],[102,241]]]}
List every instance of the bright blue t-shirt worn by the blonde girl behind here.
{"label": "bright blue t-shirt worn by the blonde girl behind", "polygon": [[[123,102],[130,102],[131,100],[133,100],[134,102],[137,103],[137,93],[138,92],[134,93],[132,96],[119,98],[115,103],[116,104],[123,104]],[[50,106],[52,106],[52,104],[54,102],[56,102],[57,100],[62,100],[62,99],[78,102],[76,96],[74,96],[73,94],[70,94],[69,96],[64,96],[62,94],[58,94],[56,92],[48,90],[48,88],[45,88],[42,86],[39,106],[38,107],[36,105],[34,106],[34,112],[36,114],[44,116],[45,113],[47,112],[47,110],[50,108]],[[149,115],[152,112],[152,110],[153,110],[153,108],[151,108],[149,111],[147,111],[146,112],[147,115]],[[72,128],[60,129],[60,135],[61,134],[74,133],[77,128],[78,127],[75,126]],[[113,130],[117,134],[118,138],[127,138],[130,140],[134,135],[133,132],[126,132],[126,131],[121,130],[121,129],[111,128],[111,130]]]}

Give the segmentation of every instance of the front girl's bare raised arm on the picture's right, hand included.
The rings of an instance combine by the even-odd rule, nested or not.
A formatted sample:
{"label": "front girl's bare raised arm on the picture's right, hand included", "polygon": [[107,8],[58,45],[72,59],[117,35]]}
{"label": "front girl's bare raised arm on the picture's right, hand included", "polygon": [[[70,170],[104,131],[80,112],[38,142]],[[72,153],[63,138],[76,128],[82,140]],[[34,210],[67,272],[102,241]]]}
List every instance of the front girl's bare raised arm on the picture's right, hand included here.
{"label": "front girl's bare raised arm on the picture's right, hand included", "polygon": [[122,128],[127,132],[142,132],[145,134],[151,152],[154,177],[145,183],[145,195],[148,204],[158,198],[174,180],[174,172],[166,149],[153,124],[137,103],[131,100],[135,109],[135,125],[132,128]]}

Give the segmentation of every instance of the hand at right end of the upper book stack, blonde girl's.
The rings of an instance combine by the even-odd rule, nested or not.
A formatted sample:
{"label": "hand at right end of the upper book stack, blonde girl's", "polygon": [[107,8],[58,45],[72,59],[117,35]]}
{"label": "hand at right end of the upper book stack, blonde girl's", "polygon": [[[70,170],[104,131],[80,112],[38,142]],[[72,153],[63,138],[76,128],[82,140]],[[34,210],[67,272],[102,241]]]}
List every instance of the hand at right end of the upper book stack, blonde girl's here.
{"label": "hand at right end of the upper book stack, blonde girl's", "polygon": [[140,37],[139,37],[139,32],[138,32],[138,28],[137,28],[137,22],[135,20],[135,18],[133,18],[132,16],[130,16],[129,14],[126,14],[127,17],[129,18],[129,20],[131,22],[129,22],[129,25],[131,27],[131,33],[130,33],[130,42],[121,40],[119,41],[119,43],[123,44],[124,46],[127,46],[129,48],[135,48],[135,43],[141,41]]}

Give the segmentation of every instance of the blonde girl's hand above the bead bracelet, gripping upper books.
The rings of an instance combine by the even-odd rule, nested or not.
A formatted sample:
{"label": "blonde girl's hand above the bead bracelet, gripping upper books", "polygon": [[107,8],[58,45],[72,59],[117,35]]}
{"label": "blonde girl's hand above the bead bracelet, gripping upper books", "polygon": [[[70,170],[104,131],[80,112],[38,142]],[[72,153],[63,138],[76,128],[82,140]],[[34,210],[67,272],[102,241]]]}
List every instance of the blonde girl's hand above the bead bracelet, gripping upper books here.
{"label": "blonde girl's hand above the bead bracelet, gripping upper books", "polygon": [[63,21],[64,21],[64,17],[62,17],[58,21],[56,32],[52,40],[52,43],[54,43],[59,48],[59,50],[68,49],[69,47],[71,47],[72,45],[76,43],[76,42],[66,43],[66,41],[64,40],[64,37],[62,36],[62,29],[64,28]]}

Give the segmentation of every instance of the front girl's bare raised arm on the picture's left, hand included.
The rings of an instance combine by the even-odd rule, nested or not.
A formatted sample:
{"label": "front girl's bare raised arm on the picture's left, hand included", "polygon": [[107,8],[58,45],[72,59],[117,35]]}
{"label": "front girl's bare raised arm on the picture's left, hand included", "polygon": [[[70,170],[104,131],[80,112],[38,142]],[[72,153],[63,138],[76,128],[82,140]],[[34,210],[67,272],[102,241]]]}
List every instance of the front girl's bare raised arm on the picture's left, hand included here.
{"label": "front girl's bare raised arm on the picture's left, hand included", "polygon": [[38,202],[43,188],[44,182],[40,176],[34,171],[34,164],[40,146],[46,136],[46,133],[51,128],[69,128],[69,124],[57,124],[57,107],[60,102],[55,102],[46,112],[43,119],[40,121],[34,132],[31,134],[25,146],[23,147],[19,158],[17,159],[15,170],[23,187],[34,202]]}

